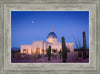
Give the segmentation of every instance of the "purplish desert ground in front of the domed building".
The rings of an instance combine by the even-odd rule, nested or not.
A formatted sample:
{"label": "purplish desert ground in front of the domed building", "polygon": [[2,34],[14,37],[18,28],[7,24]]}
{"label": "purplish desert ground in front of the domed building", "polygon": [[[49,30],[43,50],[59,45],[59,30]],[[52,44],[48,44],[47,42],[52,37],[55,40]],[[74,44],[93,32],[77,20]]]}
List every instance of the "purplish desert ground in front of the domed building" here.
{"label": "purplish desert ground in front of the domed building", "polygon": [[[83,59],[79,58],[77,55],[78,52],[69,52],[68,57],[66,59],[66,63],[89,63],[89,58]],[[38,55],[37,55],[38,56]],[[26,58],[12,58],[12,63],[63,63],[62,58],[59,55],[51,56],[51,60],[48,61],[47,56],[39,56],[36,55],[28,55]]]}

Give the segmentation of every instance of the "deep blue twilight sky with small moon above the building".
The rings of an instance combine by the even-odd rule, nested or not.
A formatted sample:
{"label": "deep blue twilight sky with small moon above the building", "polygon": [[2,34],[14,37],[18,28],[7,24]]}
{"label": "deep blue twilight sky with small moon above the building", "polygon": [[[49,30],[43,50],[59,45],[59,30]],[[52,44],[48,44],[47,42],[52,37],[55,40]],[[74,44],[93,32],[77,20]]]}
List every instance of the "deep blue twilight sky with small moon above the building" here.
{"label": "deep blue twilight sky with small moon above the building", "polygon": [[11,47],[31,45],[33,41],[46,41],[51,28],[61,42],[74,43],[75,39],[83,46],[83,31],[86,33],[89,48],[89,12],[88,11],[12,11]]}

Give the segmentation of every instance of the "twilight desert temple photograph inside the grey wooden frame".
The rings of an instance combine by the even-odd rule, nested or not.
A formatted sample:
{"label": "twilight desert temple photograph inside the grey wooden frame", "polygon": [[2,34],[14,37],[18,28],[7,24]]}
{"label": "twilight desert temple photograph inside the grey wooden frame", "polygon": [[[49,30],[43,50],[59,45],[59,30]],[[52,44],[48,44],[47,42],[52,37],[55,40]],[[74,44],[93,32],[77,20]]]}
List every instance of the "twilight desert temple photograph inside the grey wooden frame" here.
{"label": "twilight desert temple photograph inside the grey wooden frame", "polygon": [[89,11],[11,11],[11,63],[89,63]]}

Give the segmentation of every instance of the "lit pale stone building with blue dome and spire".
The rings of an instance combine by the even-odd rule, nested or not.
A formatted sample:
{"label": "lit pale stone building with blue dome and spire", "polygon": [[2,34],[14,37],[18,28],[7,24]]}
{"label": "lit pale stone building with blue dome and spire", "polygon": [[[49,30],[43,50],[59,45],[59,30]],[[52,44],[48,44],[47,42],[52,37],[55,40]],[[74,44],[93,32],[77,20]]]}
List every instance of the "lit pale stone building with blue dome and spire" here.
{"label": "lit pale stone building with blue dome and spire", "polygon": [[[62,49],[62,44],[57,41],[57,35],[51,32],[47,35],[47,41],[34,41],[32,45],[21,45],[21,53],[26,54],[46,54],[46,50],[51,46],[51,53],[58,53]],[[70,52],[74,51],[73,43],[66,43],[66,47]]]}

